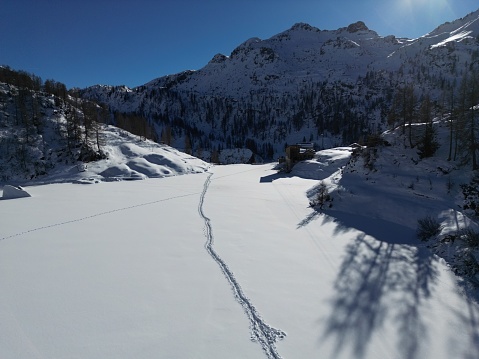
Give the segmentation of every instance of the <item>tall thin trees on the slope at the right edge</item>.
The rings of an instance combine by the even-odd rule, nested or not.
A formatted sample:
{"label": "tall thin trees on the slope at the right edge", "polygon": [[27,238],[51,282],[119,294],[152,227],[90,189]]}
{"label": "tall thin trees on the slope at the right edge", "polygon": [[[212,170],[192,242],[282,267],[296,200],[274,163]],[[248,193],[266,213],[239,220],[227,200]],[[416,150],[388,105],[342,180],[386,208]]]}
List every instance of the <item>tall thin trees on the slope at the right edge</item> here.
{"label": "tall thin trees on the slope at the right edge", "polygon": [[[388,124],[400,126],[407,145],[417,148],[421,157],[434,155],[440,145],[447,145],[448,161],[470,164],[479,169],[479,66],[471,65],[465,71],[459,86],[447,84],[442,95],[432,101],[429,94],[418,95],[414,84],[398,88],[394,96]],[[448,143],[437,139],[433,118],[447,120]],[[422,126],[415,126],[421,123]]]}

